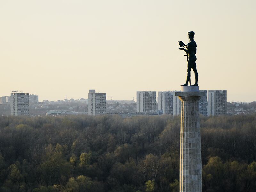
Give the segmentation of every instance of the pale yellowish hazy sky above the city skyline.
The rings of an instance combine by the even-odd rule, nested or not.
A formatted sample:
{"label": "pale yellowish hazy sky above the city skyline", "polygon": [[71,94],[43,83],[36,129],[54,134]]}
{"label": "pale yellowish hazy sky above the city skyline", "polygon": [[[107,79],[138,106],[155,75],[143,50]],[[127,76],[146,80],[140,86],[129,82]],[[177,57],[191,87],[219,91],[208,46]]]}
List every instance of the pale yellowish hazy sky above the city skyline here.
{"label": "pale yellowish hazy sky above the city skyline", "polygon": [[255,0],[0,0],[0,96],[180,90],[187,64],[177,42],[195,31],[199,89],[253,101],[255,23]]}

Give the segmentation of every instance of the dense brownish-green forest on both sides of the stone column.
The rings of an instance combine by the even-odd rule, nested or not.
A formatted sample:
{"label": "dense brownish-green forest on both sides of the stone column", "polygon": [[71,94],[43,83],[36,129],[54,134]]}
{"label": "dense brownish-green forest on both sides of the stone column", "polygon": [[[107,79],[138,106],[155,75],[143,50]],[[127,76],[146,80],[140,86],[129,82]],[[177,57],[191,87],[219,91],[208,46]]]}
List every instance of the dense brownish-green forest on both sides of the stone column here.
{"label": "dense brownish-green forest on both sides of the stone column", "polygon": [[[256,114],[201,117],[203,191],[256,190]],[[177,192],[180,117],[0,117],[0,191]]]}

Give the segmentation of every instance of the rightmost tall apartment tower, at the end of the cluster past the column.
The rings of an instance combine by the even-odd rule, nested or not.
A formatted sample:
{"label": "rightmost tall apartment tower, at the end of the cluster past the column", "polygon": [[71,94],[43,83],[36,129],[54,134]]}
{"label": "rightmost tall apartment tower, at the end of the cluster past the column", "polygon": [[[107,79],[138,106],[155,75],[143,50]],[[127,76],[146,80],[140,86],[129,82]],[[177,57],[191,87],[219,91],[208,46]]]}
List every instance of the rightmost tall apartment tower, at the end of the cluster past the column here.
{"label": "rightmost tall apartment tower, at the end of the cluster past the column", "polygon": [[208,90],[208,116],[227,114],[227,90]]}

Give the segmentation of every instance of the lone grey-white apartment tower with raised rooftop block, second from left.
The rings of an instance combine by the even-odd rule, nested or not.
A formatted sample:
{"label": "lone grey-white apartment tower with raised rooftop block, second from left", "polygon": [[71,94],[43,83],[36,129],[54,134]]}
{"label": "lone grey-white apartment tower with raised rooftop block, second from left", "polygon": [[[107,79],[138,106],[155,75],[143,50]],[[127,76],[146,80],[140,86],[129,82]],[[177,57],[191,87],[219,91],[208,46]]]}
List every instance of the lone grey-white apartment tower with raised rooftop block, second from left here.
{"label": "lone grey-white apartment tower with raised rooftop block, second from left", "polygon": [[107,113],[107,94],[95,93],[94,89],[90,89],[88,93],[88,114],[102,115]]}

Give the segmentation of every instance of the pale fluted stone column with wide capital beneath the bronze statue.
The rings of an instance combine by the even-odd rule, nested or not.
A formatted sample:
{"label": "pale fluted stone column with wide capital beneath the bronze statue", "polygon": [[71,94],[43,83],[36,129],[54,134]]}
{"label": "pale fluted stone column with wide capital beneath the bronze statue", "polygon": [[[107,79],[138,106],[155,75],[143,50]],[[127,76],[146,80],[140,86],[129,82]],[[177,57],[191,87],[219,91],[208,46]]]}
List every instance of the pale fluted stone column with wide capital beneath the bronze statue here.
{"label": "pale fluted stone column with wide capital beneath the bronze statue", "polygon": [[198,86],[181,86],[180,192],[202,192],[202,158]]}

